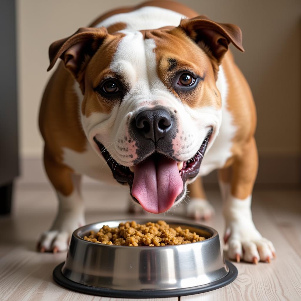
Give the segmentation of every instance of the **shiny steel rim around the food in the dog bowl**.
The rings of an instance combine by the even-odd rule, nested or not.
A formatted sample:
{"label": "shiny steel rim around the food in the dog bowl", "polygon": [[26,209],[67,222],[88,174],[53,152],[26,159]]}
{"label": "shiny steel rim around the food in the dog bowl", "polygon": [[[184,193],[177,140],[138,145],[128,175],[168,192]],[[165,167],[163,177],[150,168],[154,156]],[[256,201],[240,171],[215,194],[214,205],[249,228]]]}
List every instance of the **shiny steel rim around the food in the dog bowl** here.
{"label": "shiny steel rim around the food in the dog bowl", "polygon": [[[137,220],[141,220],[141,219],[143,219],[143,218],[141,218],[141,217],[138,217],[137,218]],[[146,219],[147,220],[147,219]],[[149,219],[148,220],[148,222],[152,222],[152,220],[153,219]],[[160,220],[160,219],[159,219]],[[84,242],[84,243],[86,243],[86,244],[93,244],[93,246],[98,246],[98,247],[113,247],[113,248],[128,248],[128,247],[130,247],[130,246],[121,246],[121,245],[109,245],[109,244],[98,244],[98,243],[95,243],[95,242],[93,242],[93,241],[89,241],[89,240],[86,240],[86,239],[84,239],[83,237],[81,237],[80,235],[79,235],[79,232],[81,232],[82,231],[82,229],[83,228],[87,228],[87,230],[88,230],[88,228],[89,227],[91,227],[91,226],[93,226],[93,225],[95,225],[95,224],[99,224],[99,223],[105,223],[105,222],[118,222],[118,221],[120,221],[120,222],[122,222],[122,221],[127,221],[128,222],[128,220],[126,220],[126,219],[110,219],[110,220],[105,220],[105,221],[100,221],[100,222],[94,222],[94,223],[91,223],[91,224],[87,224],[87,225],[84,225],[84,226],[82,226],[82,227],[79,227],[79,228],[77,228],[76,230],[74,230],[73,231],[73,233],[72,233],[72,236],[73,237],[75,237],[76,239],[79,239],[79,240],[81,240],[82,242]],[[166,222],[166,223],[173,223],[173,222],[176,222],[175,220],[173,220],[173,219],[164,219],[164,221]],[[197,222],[190,222],[190,221],[186,221],[186,220],[180,220],[180,221],[178,221],[178,223],[180,224],[180,223],[183,223],[183,224],[187,224],[187,225],[191,225],[191,226],[196,226],[196,227],[199,227],[199,228],[203,228],[205,231],[208,231],[208,232],[210,232],[210,233],[212,233],[212,236],[210,236],[209,238],[206,238],[205,240],[200,240],[200,241],[196,241],[196,242],[194,242],[194,243],[192,243],[192,244],[200,244],[200,243],[205,243],[205,242],[208,242],[208,241],[210,241],[210,240],[213,240],[213,239],[215,239],[216,237],[218,237],[219,236],[219,234],[218,234],[218,232],[214,229],[214,228],[212,228],[212,227],[209,227],[209,226],[206,226],[206,225],[203,225],[203,224],[198,224]],[[180,246],[189,246],[190,244],[179,244],[179,245],[167,245],[167,246],[155,246],[155,247],[164,247],[164,249],[165,248],[178,248],[178,247],[180,247]],[[153,248],[152,247],[149,247],[149,246],[137,246],[137,247],[133,247],[134,249],[136,249],[136,248],[151,248],[151,250],[153,250]]]}

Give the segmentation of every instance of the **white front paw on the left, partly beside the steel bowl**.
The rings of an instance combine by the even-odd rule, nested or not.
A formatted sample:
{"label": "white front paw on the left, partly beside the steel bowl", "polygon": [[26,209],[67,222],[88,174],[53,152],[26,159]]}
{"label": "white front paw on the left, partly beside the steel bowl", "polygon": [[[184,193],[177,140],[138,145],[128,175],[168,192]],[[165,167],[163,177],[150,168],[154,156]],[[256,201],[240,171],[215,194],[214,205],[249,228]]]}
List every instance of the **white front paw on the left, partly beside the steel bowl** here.
{"label": "white front paw on the left, partly beside the steel bowl", "polygon": [[53,253],[67,251],[73,231],[83,225],[85,225],[83,215],[73,215],[70,218],[59,214],[51,229],[42,233],[38,250]]}

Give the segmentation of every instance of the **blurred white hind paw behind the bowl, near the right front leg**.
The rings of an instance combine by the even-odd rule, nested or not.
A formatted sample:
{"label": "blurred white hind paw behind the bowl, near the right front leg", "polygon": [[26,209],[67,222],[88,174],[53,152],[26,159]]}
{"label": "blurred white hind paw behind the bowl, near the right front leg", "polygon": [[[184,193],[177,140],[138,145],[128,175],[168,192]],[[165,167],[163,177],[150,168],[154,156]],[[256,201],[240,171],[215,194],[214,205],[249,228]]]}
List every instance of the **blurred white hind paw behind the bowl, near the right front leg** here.
{"label": "blurred white hind paw behind the bowl, near the right front leg", "polygon": [[214,215],[214,208],[207,200],[192,198],[187,205],[187,216],[194,220],[210,219]]}

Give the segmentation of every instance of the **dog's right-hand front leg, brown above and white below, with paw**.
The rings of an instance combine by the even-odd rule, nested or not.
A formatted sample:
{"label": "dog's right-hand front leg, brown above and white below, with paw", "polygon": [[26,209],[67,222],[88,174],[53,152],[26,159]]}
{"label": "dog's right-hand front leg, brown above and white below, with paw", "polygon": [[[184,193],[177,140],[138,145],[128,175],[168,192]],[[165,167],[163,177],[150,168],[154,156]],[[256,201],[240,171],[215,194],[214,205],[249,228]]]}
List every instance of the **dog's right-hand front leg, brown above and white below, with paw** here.
{"label": "dog's right-hand front leg, brown above and white below, with paw", "polygon": [[228,256],[257,263],[275,257],[273,244],[256,229],[251,213],[252,190],[258,167],[255,139],[243,147],[231,168],[220,170],[223,213],[226,221],[225,242]]}

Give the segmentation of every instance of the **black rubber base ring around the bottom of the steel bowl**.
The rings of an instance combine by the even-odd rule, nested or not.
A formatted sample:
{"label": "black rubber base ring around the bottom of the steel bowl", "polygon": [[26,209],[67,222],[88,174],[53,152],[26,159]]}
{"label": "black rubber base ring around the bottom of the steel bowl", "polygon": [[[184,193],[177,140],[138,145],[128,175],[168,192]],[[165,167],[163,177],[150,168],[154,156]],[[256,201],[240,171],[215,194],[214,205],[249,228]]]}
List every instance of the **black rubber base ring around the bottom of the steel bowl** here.
{"label": "black rubber base ring around the bottom of the steel bowl", "polygon": [[104,297],[119,297],[119,298],[162,298],[162,297],[177,297],[194,295],[199,293],[209,292],[224,287],[234,281],[237,277],[237,268],[226,260],[229,267],[229,273],[222,279],[219,279],[210,284],[181,288],[175,290],[112,290],[104,287],[94,287],[76,283],[67,279],[61,272],[64,262],[57,265],[53,270],[53,279],[56,283],[70,290],[75,290],[80,293],[91,294]]}

